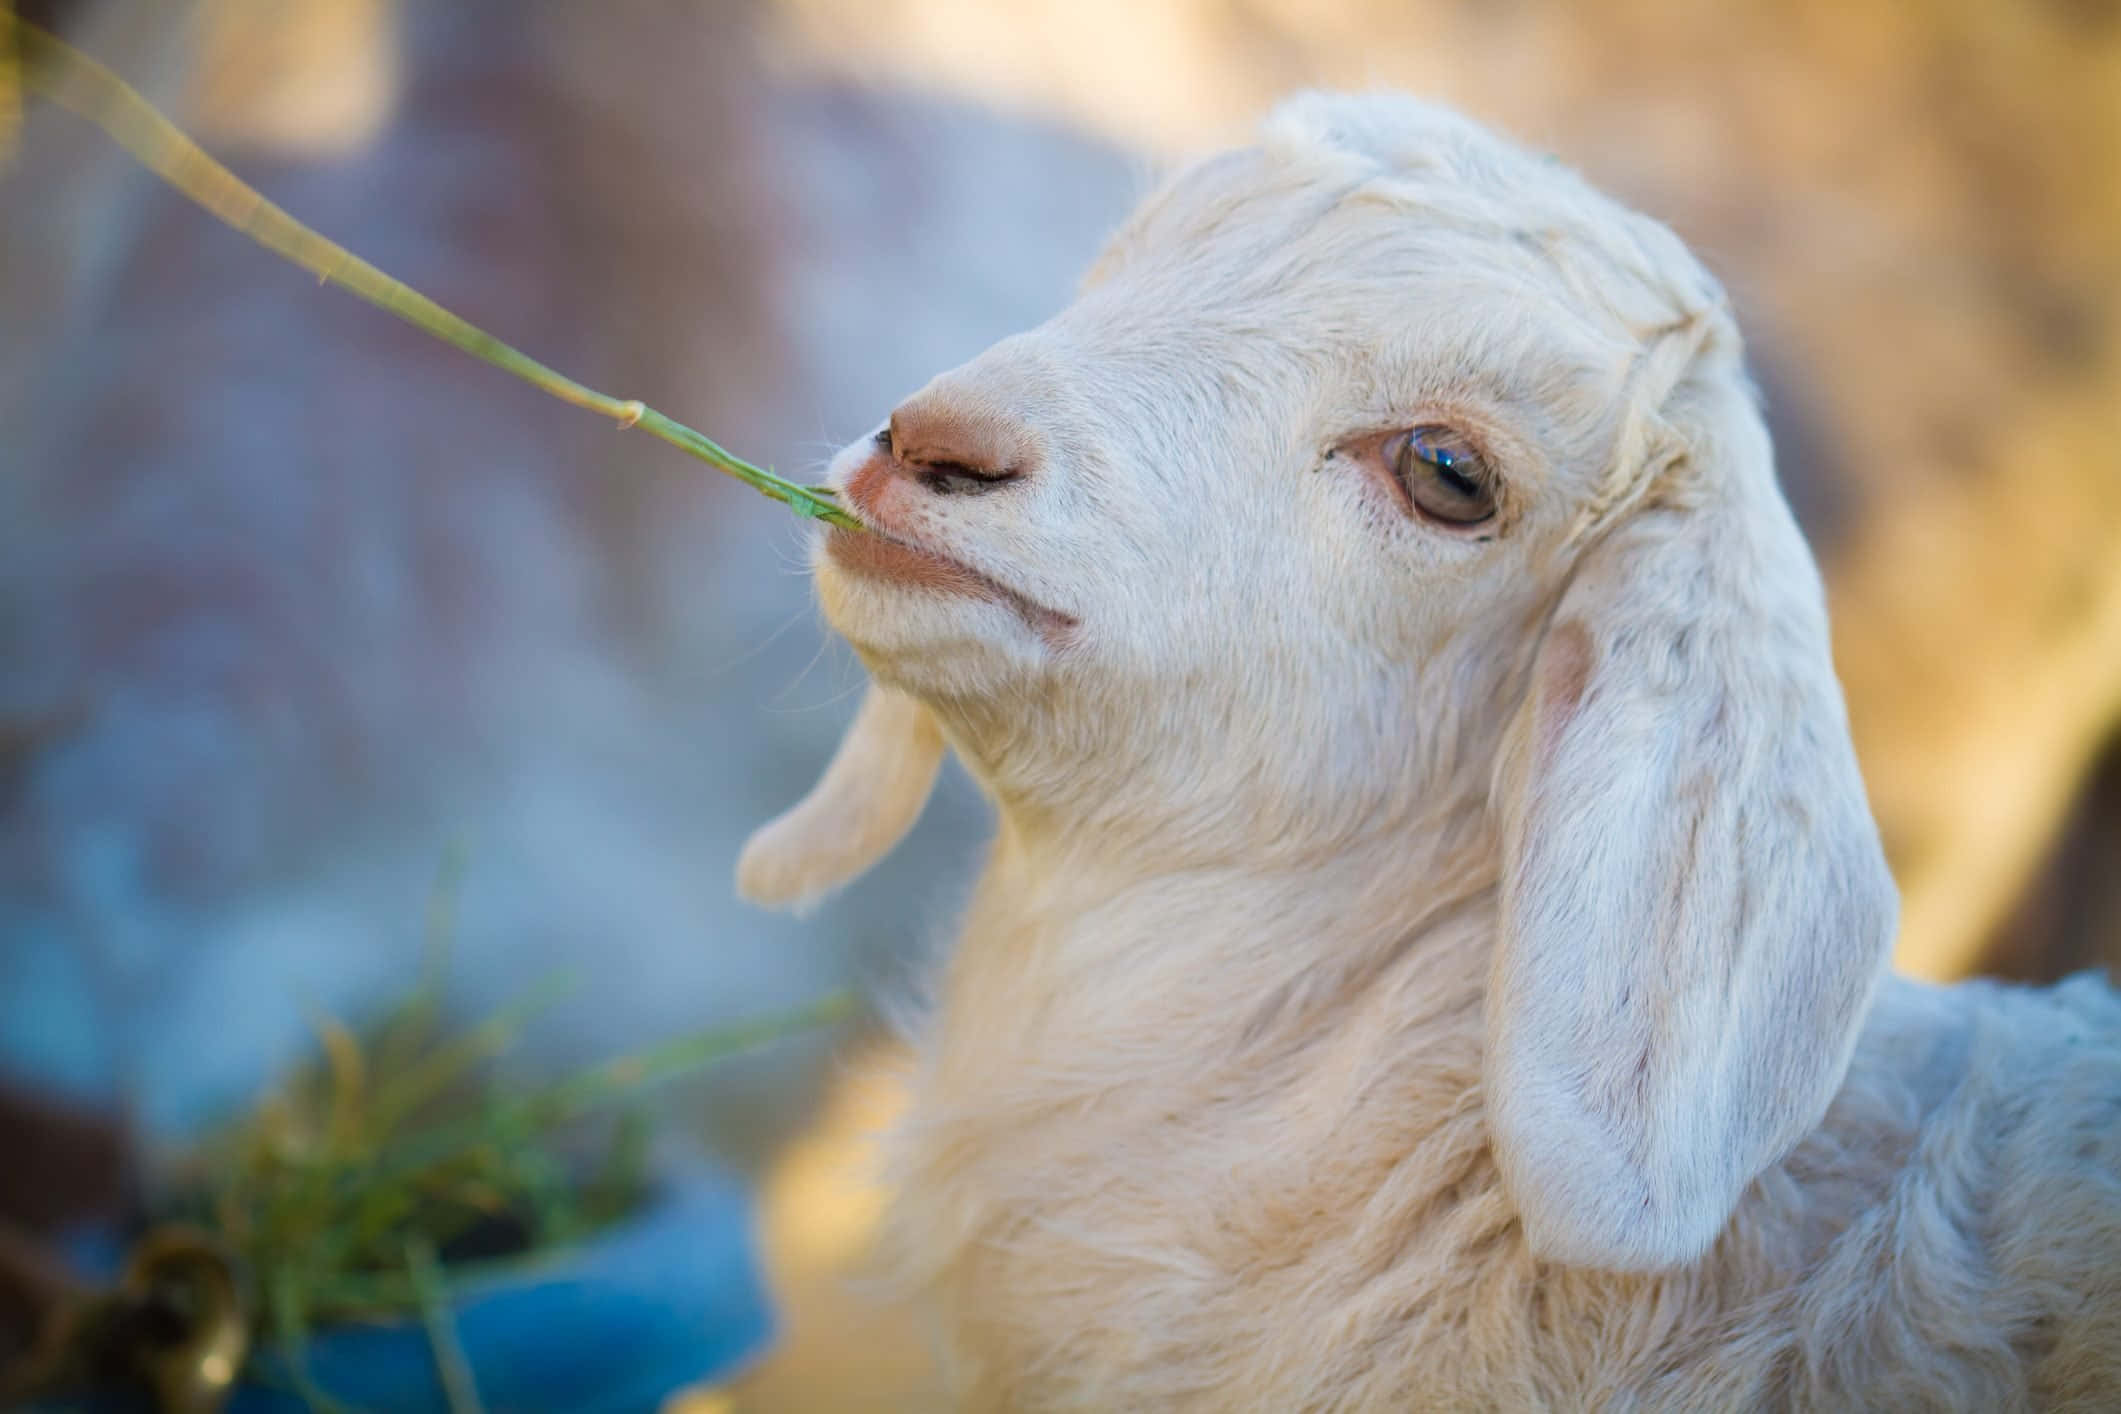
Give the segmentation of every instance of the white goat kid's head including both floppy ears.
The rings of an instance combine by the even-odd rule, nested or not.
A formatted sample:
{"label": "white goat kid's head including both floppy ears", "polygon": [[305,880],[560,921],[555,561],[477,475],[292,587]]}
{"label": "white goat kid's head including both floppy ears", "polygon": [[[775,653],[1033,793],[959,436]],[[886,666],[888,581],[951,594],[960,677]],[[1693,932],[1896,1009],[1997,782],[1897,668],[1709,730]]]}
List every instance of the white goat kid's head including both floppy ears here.
{"label": "white goat kid's head including both floppy ears", "polygon": [[1485,820],[1495,1151],[1536,1251],[1703,1251],[1818,1124],[1892,884],[1716,284],[1449,112],[1307,98],[834,466],[887,689],[744,884],[851,876],[942,733],[1145,867]]}

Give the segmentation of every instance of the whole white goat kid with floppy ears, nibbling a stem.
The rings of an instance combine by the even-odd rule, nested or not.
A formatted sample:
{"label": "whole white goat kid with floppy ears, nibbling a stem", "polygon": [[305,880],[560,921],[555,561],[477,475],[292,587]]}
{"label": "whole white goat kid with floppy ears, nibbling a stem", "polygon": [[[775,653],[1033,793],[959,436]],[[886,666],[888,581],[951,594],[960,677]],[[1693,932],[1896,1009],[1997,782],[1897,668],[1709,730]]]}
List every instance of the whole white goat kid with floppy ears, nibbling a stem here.
{"label": "whole white goat kid with floppy ears, nibbling a stem", "polygon": [[2121,1408],[2121,1005],[1879,986],[1894,890],[1739,339],[1663,227],[1304,98],[834,464],[999,837],[897,1134],[967,1408]]}

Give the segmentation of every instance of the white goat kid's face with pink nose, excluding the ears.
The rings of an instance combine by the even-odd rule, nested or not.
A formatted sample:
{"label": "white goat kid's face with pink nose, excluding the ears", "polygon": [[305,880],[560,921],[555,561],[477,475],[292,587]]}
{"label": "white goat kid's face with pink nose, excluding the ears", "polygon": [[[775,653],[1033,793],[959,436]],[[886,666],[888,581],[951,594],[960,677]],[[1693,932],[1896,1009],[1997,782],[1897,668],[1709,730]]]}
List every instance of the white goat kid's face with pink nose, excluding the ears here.
{"label": "white goat kid's face with pink nose, excluding the ears", "polygon": [[836,460],[880,534],[823,541],[827,617],[1003,799],[1330,844],[1491,761],[1644,341],[1710,301],[1470,123],[1290,110]]}

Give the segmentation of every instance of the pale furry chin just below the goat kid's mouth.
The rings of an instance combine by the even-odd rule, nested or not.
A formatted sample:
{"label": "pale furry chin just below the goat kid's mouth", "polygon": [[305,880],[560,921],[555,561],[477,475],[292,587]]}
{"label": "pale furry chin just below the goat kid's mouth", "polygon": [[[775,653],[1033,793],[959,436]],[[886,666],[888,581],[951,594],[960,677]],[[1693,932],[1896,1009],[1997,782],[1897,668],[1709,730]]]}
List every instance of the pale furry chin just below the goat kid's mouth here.
{"label": "pale furry chin just below the goat kid's mouth", "polygon": [[882,683],[914,697],[991,697],[1020,689],[1052,664],[1052,642],[1010,602],[933,594],[817,566],[825,621]]}

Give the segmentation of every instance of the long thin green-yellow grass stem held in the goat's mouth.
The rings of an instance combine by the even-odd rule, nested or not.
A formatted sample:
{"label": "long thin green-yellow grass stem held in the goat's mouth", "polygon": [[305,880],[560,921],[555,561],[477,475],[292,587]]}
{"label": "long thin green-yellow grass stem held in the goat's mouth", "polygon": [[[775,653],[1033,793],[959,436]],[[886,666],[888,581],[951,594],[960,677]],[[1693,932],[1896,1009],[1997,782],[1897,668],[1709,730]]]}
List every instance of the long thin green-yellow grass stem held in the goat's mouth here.
{"label": "long thin green-yellow grass stem held in the goat's mouth", "polygon": [[[795,509],[800,515],[840,526],[842,530],[865,530],[861,522],[834,505],[831,488],[797,485],[764,466],[753,466],[711,437],[666,418],[638,399],[615,399],[585,388],[564,373],[547,369],[537,358],[520,354],[469,320],[450,314],[426,295],[386,276],[352,250],[318,235],[267,201],[257,189],[208,157],[197,142],[187,138],[182,129],[95,59],[89,59],[45,30],[15,19],[8,8],[0,8],[0,25],[8,30],[0,40],[11,38],[17,47],[8,53],[8,61],[19,64],[28,89],[95,123],[148,172],[250,240],[301,265],[318,282],[337,284],[341,290],[358,295],[380,310],[388,310],[443,343],[454,343],[467,354],[513,373],[562,403],[602,413],[621,428],[638,426],[643,432],[660,437],[681,452],[689,452],[761,496]],[[0,45],[0,53],[6,53],[4,45]]]}

